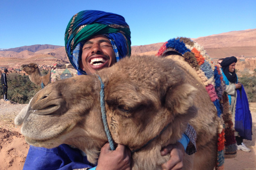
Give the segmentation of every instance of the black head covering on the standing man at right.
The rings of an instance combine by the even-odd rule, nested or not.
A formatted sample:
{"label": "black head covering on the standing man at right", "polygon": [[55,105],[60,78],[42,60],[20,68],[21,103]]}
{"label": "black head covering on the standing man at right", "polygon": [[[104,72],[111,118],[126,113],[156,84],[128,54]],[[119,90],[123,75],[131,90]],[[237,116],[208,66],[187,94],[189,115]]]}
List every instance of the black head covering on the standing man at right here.
{"label": "black head covering on the standing man at right", "polygon": [[226,75],[228,81],[230,81],[231,83],[237,82],[236,71],[234,71],[233,73],[229,72],[229,65],[234,62],[237,62],[237,58],[232,56],[224,58],[223,61],[220,63],[223,73]]}

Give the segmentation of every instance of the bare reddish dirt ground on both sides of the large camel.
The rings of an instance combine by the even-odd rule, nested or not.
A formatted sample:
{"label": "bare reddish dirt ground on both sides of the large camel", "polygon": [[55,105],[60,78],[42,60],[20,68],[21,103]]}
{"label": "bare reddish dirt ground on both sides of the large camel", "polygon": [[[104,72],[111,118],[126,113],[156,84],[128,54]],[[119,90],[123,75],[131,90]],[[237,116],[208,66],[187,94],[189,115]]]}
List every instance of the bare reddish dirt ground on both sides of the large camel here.
{"label": "bare reddish dirt ground on both sides of the large camel", "polygon": [[[0,100],[0,170],[21,170],[25,163],[29,145],[20,134],[20,128],[14,125],[15,116],[24,106]],[[256,169],[256,103],[250,103],[250,110],[253,138],[244,143],[251,151],[238,150],[237,157],[225,160],[225,170]]]}

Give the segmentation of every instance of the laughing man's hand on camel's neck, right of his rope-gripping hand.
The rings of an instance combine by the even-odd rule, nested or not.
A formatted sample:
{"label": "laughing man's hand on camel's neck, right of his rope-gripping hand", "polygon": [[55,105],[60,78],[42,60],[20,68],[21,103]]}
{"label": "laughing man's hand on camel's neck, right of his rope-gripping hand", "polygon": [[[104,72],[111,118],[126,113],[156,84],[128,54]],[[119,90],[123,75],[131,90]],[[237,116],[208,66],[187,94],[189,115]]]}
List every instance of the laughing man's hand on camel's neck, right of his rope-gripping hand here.
{"label": "laughing man's hand on camel's neck, right of his rope-gripping hand", "polygon": [[170,160],[162,165],[163,170],[180,170],[183,167],[183,158],[185,149],[180,142],[176,145],[168,145],[161,150],[161,155],[165,156],[170,153]]}

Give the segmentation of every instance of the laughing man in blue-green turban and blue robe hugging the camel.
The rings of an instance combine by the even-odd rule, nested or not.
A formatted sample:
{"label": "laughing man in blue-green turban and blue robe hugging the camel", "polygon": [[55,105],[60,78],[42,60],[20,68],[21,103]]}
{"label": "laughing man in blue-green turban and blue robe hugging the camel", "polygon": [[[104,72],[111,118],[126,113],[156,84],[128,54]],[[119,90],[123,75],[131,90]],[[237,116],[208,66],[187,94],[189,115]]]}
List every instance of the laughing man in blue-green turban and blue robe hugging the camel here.
{"label": "laughing man in blue-green turban and blue robe hugging the camel", "polygon": [[[81,11],[71,18],[65,33],[65,47],[69,61],[78,75],[90,75],[104,67],[110,67],[123,57],[131,55],[130,33],[129,25],[121,15],[94,10]],[[162,155],[169,153],[171,155],[169,162],[163,165],[164,169],[182,168],[183,156],[189,142],[187,135],[183,134],[180,142],[177,145],[167,146],[161,151]],[[45,156],[49,154],[51,156]],[[33,163],[38,164],[39,160],[44,168],[51,164],[55,169],[58,166],[58,169],[130,169],[130,157],[131,151],[125,146],[118,144],[116,150],[110,150],[109,143],[106,143],[101,148],[98,165],[95,167],[87,161],[86,156],[67,145],[53,149],[30,147],[25,166],[31,168],[34,166]],[[64,161],[64,159],[68,160]],[[42,164],[35,168],[43,169]]]}

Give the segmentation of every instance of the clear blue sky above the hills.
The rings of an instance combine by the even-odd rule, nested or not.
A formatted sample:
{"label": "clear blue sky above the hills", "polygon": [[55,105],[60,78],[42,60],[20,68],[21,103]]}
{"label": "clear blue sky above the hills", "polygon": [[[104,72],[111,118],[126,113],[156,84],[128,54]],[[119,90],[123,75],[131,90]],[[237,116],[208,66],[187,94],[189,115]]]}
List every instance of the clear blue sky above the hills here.
{"label": "clear blue sky above the hills", "polygon": [[162,43],[177,36],[198,38],[256,28],[255,0],[1,0],[0,48],[35,44],[64,46],[70,18],[101,10],[124,16],[132,46]]}

